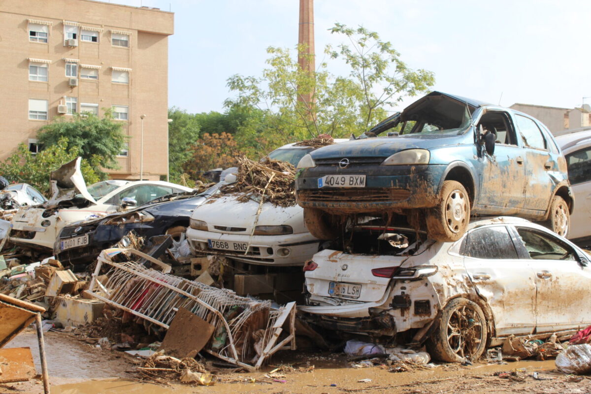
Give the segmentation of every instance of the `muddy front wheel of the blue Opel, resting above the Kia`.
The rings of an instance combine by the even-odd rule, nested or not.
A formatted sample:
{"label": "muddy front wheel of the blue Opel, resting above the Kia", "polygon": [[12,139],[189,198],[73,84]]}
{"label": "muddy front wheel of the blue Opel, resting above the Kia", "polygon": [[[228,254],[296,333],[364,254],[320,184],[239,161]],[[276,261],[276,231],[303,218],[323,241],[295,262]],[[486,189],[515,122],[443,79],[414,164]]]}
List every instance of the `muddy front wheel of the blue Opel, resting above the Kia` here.
{"label": "muddy front wheel of the blue Opel, resting above the Kia", "polygon": [[427,210],[427,234],[441,242],[454,242],[466,232],[470,222],[470,198],[457,181],[444,181],[440,201]]}

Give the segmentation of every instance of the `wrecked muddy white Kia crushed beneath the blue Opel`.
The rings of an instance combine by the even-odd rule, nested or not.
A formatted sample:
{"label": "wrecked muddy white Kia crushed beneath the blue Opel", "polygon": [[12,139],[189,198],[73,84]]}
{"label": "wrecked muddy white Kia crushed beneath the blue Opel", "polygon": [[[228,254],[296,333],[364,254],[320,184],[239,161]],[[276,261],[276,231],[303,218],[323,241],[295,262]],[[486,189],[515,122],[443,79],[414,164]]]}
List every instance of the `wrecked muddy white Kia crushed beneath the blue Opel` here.
{"label": "wrecked muddy white Kia crushed beneath the blue Opel", "polygon": [[349,239],[304,266],[299,310],[329,330],[426,343],[436,359],[463,362],[511,335],[591,324],[591,256],[528,220],[475,220],[449,243],[369,224]]}

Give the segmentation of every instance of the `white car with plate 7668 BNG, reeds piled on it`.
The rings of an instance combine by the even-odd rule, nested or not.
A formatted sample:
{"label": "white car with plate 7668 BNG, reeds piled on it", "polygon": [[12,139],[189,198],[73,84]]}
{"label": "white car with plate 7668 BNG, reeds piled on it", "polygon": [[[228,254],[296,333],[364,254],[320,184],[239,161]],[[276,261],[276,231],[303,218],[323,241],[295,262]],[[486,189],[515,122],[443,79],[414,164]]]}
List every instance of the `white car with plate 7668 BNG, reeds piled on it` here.
{"label": "white car with plate 7668 BNG, reeds piled on it", "polygon": [[[346,140],[335,142],[341,141]],[[287,144],[268,157],[295,166],[313,150],[310,146]],[[191,252],[217,253],[246,263],[290,266],[303,265],[318,251],[321,241],[306,229],[300,206],[284,208],[264,203],[256,220],[258,196],[246,203],[236,201],[235,197],[223,196],[193,211],[187,229]]]}

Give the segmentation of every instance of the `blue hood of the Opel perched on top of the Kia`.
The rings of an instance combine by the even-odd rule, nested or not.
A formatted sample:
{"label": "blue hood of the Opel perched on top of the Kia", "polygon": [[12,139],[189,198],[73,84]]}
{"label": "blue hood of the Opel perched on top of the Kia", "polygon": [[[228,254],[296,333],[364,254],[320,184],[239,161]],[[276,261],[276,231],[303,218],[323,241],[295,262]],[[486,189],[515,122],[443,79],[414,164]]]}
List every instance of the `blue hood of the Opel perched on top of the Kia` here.
{"label": "blue hood of the Opel perched on top of the Kia", "polygon": [[425,134],[401,135],[393,137],[364,138],[323,146],[310,153],[314,160],[343,157],[384,157],[398,151],[421,148],[431,149],[437,146],[459,144],[464,135]]}

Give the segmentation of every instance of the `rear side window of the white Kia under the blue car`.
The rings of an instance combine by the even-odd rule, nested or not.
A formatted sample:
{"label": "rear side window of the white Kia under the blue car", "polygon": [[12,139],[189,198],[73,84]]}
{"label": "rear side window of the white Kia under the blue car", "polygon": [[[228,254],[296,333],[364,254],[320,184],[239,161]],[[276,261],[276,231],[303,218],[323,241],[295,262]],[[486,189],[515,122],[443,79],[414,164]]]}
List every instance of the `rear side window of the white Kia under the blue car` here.
{"label": "rear side window of the white Kia under the blue car", "polygon": [[464,255],[477,259],[517,259],[517,250],[505,226],[472,230],[466,236]]}

